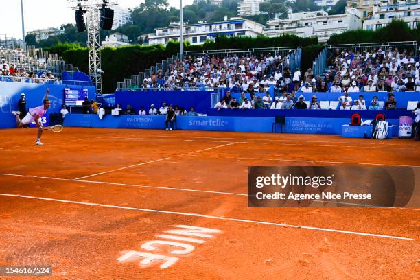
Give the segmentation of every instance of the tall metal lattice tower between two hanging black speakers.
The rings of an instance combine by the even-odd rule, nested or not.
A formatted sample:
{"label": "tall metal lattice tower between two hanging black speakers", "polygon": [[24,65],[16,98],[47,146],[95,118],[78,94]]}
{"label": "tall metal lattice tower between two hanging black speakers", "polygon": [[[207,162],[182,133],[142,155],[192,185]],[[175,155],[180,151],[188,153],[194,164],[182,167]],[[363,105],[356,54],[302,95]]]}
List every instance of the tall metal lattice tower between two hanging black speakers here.
{"label": "tall metal lattice tower between two hanging black speakers", "polygon": [[117,5],[110,0],[67,0],[69,8],[86,11],[84,21],[88,35],[89,76],[96,86],[97,102],[102,104],[101,30],[100,9]]}

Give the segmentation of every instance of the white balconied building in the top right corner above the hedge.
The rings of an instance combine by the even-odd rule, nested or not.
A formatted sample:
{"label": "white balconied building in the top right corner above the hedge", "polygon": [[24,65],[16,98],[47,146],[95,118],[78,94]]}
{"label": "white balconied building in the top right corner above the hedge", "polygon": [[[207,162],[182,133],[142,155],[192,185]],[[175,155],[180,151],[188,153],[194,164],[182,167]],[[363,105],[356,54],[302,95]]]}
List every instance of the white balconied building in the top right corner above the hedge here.
{"label": "white balconied building in the top right corner above the hedge", "polygon": [[420,21],[418,0],[382,0],[373,5],[371,16],[364,20],[364,30],[378,30],[388,25],[393,19],[402,19],[409,27],[415,28]]}

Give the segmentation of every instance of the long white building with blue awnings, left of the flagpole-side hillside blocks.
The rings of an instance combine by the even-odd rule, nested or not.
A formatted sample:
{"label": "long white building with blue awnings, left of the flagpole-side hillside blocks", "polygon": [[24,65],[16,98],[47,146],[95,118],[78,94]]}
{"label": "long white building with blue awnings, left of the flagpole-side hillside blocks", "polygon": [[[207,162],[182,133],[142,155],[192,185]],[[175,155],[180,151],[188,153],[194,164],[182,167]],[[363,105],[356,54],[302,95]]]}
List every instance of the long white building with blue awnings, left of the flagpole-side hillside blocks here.
{"label": "long white building with blue awnings, left of the flagpole-side hillside blocks", "polygon": [[[262,35],[263,31],[264,25],[241,18],[233,18],[218,23],[184,25],[183,27],[184,40],[189,41],[191,45],[205,43],[207,39],[213,40],[216,35],[256,37]],[[170,40],[178,41],[179,37],[180,25],[176,23],[168,27],[156,28],[156,34],[149,36],[148,40],[149,45],[166,45]]]}

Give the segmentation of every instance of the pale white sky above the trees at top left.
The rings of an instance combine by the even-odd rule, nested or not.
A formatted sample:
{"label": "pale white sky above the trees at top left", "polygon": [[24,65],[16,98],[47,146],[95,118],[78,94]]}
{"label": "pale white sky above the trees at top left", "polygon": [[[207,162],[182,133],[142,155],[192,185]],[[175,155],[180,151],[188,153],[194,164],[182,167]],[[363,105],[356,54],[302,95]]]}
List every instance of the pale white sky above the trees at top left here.
{"label": "pale white sky above the trees at top left", "polygon": [[[144,0],[113,0],[122,8],[135,8]],[[193,0],[183,0],[189,5]],[[179,0],[168,0],[170,6],[179,8]],[[67,0],[23,0],[25,31],[46,27],[60,27],[65,23],[75,24],[74,12],[67,8]],[[0,39],[22,38],[21,0],[0,0]]]}

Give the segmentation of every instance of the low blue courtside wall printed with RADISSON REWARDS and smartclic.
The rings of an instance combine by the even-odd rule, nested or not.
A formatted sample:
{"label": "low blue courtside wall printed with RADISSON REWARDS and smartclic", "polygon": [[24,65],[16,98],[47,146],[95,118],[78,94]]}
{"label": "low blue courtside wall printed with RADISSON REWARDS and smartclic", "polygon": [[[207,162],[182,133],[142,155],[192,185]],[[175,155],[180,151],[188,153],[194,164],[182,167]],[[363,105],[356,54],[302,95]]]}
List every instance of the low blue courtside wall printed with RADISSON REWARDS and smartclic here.
{"label": "low blue courtside wall printed with RADISSON REWARDS and smartclic", "polygon": [[[261,110],[263,111],[263,110]],[[303,110],[300,110],[303,113]],[[234,132],[272,132],[272,124],[275,121],[275,113],[286,115],[286,132],[288,133],[310,133],[310,134],[336,134],[341,135],[342,125],[349,124],[350,116],[343,113],[342,115],[327,115],[327,112],[333,114],[334,111],[312,111],[305,112],[307,115],[288,115],[286,111],[276,110],[272,115],[251,115],[255,111],[248,111],[248,115],[231,115],[229,110],[219,111],[220,115],[193,117],[178,116],[177,129],[180,130],[209,130],[209,131],[234,131]],[[267,111],[268,112],[268,111]],[[290,111],[289,111],[290,112]],[[294,112],[294,111],[293,111]],[[377,113],[385,113],[388,122],[393,125],[393,135],[398,135],[399,115],[410,115],[411,112],[406,110],[395,111],[389,114],[386,111],[376,110],[375,114],[365,115],[362,117],[373,119]],[[236,112],[237,113],[237,112]],[[366,112],[368,113],[368,112]],[[311,114],[311,115],[310,115]],[[318,114],[318,115],[316,115]],[[334,112],[335,114],[335,112]],[[140,115],[105,115],[101,120],[97,115],[67,115],[65,126],[75,127],[91,127],[91,128],[145,128],[145,129],[164,129],[165,116],[140,116]],[[277,127],[277,131],[280,128]]]}

